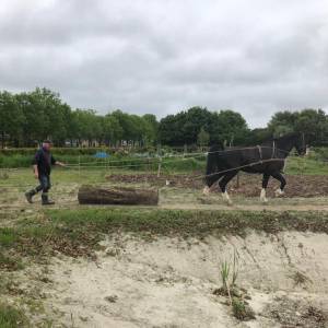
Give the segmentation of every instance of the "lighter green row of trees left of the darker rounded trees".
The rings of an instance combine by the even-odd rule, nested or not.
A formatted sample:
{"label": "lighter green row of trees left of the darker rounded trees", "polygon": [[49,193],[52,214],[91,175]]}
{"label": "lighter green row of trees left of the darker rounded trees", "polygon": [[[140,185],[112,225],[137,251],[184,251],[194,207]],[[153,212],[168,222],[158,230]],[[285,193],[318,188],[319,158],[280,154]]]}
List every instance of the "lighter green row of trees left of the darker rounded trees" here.
{"label": "lighter green row of trees left of the darker rounded trees", "polygon": [[11,94],[0,92],[0,140],[12,145],[36,145],[43,139],[51,139],[56,145],[95,142],[115,145],[121,140],[128,143],[154,144],[159,122],[151,114],[129,115],[115,110],[105,116],[93,109],[71,107],[48,89]]}

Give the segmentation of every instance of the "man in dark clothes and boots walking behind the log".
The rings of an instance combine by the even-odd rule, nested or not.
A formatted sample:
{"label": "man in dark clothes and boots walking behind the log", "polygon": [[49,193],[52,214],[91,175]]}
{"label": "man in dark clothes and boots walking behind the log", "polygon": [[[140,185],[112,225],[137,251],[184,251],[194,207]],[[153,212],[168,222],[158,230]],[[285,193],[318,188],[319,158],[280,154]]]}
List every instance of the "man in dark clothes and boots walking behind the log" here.
{"label": "man in dark clothes and boots walking behind the log", "polygon": [[26,200],[30,203],[33,202],[32,201],[33,196],[39,192],[40,190],[43,191],[42,194],[43,204],[55,203],[48,198],[48,191],[51,188],[51,184],[50,184],[51,165],[59,165],[59,166],[66,166],[66,165],[54,159],[54,156],[50,153],[50,149],[51,149],[51,142],[49,140],[45,140],[43,142],[43,147],[36,152],[34,156],[33,169],[34,169],[35,178],[39,180],[39,186],[37,186],[35,189],[25,192]]}

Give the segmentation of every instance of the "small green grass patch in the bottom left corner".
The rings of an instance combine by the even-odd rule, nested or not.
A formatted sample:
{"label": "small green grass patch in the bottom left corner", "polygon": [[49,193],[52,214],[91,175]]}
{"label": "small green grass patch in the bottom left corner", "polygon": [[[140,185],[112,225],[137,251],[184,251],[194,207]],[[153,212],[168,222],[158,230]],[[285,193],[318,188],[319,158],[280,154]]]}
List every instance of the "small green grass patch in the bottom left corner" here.
{"label": "small green grass patch in the bottom left corner", "polygon": [[0,303],[0,327],[24,328],[32,327],[21,309]]}

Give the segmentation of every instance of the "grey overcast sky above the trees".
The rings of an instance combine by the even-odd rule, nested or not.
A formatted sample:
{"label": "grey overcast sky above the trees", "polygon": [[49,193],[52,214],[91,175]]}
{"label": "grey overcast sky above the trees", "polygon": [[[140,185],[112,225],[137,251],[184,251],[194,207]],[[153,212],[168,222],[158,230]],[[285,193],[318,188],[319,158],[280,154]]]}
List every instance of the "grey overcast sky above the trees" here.
{"label": "grey overcast sky above the trees", "polygon": [[0,90],[159,118],[207,106],[328,113],[324,0],[1,0]]}

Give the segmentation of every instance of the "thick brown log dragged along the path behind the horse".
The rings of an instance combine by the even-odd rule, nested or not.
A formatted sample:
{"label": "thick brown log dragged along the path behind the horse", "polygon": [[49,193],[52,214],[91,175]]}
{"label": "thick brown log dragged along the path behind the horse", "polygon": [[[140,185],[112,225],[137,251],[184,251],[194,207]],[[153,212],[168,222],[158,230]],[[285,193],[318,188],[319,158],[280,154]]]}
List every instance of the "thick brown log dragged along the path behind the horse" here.
{"label": "thick brown log dragged along the path behind the horse", "polygon": [[81,204],[157,204],[157,189],[134,188],[98,188],[95,186],[81,186],[78,194]]}

